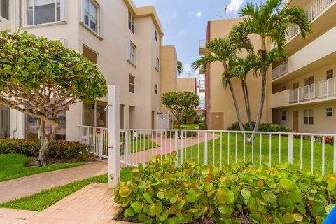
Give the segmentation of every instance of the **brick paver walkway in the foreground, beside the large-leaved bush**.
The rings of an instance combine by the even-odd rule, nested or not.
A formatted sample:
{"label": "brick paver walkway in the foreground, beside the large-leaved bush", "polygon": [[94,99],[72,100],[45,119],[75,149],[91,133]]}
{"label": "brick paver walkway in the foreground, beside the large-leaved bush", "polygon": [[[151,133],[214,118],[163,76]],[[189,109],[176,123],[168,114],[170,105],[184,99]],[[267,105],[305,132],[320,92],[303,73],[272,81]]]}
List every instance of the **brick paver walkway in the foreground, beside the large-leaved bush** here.
{"label": "brick paver walkway in the foreground, beside the large-leaved bush", "polygon": [[113,201],[113,189],[106,184],[93,183],[65,197],[42,212],[0,209],[3,224],[103,224],[113,221],[120,206]]}

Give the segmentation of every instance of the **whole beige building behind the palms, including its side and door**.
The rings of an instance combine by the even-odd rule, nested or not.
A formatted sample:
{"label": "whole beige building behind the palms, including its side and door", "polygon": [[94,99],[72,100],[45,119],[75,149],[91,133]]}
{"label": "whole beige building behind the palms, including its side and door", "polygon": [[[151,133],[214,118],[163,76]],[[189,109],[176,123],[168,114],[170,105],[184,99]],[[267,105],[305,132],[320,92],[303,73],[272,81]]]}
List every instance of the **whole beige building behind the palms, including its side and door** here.
{"label": "whole beige building behind the palms, including its side and door", "polygon": [[[242,21],[242,18],[234,18],[227,20],[209,21],[207,26],[207,40],[200,41],[200,55],[207,54],[206,43],[214,38],[225,38],[235,25]],[[260,48],[258,38],[252,38],[255,48]],[[230,90],[223,86],[222,75],[223,65],[220,63],[208,64],[207,72],[200,71],[204,75],[204,83],[200,83],[200,92],[205,93],[205,110],[208,128],[211,130],[226,130],[232,123],[237,122],[237,114],[235,105],[232,100]],[[251,112],[253,118],[256,119],[258,113],[261,78],[255,78],[253,74],[247,76],[248,90],[251,100]],[[244,104],[244,96],[241,90],[241,82],[238,78],[232,78],[232,85],[238,100],[241,118],[247,123],[246,109]],[[267,85],[267,92],[270,87]],[[267,97],[268,98],[268,97]],[[270,122],[272,113],[268,106],[268,100],[265,100],[265,107],[262,116],[262,122]]]}

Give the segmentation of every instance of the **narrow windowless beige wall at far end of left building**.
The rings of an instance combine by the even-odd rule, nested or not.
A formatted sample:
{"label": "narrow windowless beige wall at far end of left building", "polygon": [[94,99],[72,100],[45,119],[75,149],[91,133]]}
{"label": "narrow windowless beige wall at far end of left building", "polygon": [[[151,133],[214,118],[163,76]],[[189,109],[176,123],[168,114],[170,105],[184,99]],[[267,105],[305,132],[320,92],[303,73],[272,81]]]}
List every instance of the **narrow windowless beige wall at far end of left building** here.
{"label": "narrow windowless beige wall at far end of left building", "polygon": [[[165,92],[177,91],[177,53],[174,45],[161,48],[161,89],[160,95]],[[162,113],[171,113],[160,101]]]}

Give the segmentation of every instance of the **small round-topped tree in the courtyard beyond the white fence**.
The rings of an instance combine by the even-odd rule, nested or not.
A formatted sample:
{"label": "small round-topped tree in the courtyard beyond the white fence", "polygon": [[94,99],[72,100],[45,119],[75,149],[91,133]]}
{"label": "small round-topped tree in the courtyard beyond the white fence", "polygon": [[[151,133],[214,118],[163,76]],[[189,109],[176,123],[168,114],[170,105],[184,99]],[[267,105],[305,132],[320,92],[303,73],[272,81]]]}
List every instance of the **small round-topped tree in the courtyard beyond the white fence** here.
{"label": "small round-topped tree in the courtyard beyond the white fence", "polygon": [[172,111],[177,120],[178,128],[182,120],[189,120],[196,115],[195,109],[200,106],[200,97],[193,92],[165,92],[162,104]]}

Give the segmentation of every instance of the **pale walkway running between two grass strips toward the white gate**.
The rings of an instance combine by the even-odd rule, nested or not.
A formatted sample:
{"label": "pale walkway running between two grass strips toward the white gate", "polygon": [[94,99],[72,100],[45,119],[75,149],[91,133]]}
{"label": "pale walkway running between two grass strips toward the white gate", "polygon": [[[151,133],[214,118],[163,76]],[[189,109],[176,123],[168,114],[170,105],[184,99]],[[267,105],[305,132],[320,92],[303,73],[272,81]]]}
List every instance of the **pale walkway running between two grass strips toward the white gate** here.
{"label": "pale walkway running between two grass strips toward the white gate", "polygon": [[33,195],[41,190],[63,186],[73,181],[87,179],[91,176],[106,174],[107,169],[105,162],[89,162],[79,167],[59,169],[52,172],[3,181],[0,182],[0,203],[9,202],[27,195]]}

